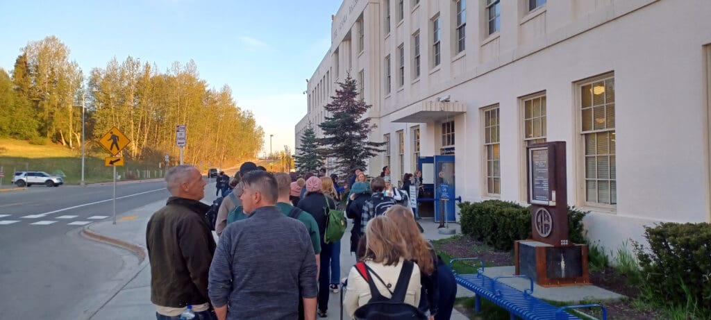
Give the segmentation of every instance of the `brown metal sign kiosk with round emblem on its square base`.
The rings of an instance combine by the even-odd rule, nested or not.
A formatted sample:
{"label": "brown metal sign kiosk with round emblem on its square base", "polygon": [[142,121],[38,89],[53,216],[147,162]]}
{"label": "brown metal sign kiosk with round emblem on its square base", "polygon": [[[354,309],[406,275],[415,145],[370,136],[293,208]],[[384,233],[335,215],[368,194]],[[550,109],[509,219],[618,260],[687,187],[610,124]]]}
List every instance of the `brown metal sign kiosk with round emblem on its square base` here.
{"label": "brown metal sign kiosk with round emblem on its square base", "polygon": [[514,243],[515,274],[542,287],[590,284],[587,245],[568,240],[565,142],[526,149],[532,239]]}

